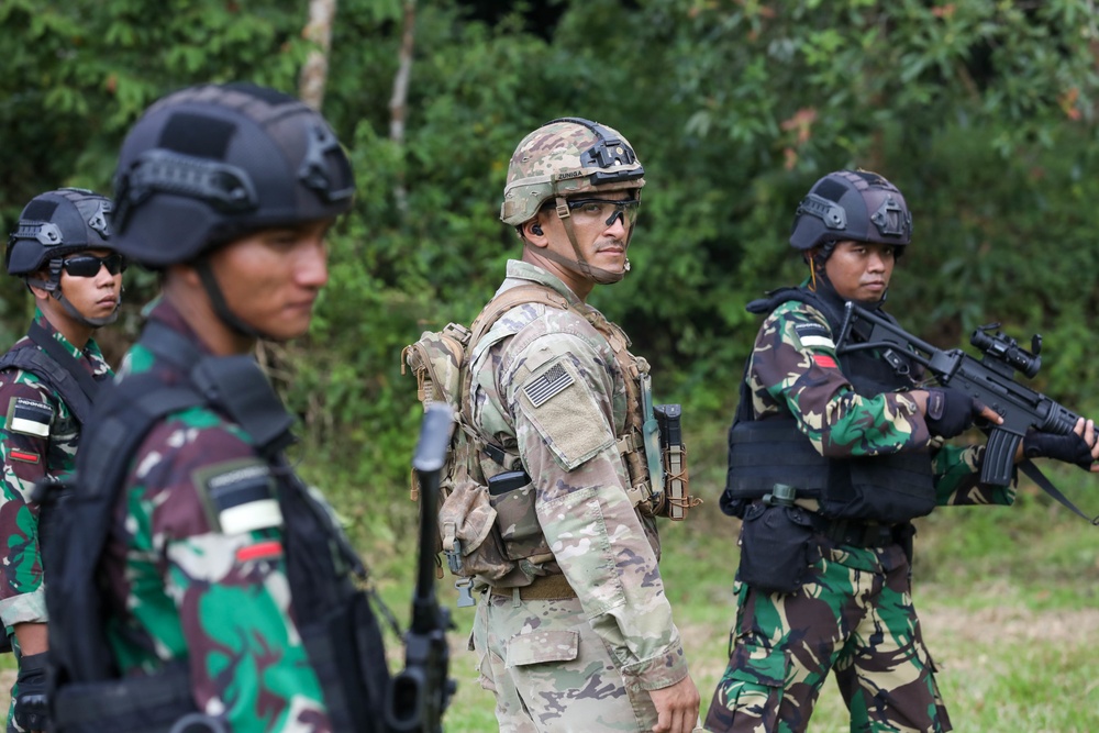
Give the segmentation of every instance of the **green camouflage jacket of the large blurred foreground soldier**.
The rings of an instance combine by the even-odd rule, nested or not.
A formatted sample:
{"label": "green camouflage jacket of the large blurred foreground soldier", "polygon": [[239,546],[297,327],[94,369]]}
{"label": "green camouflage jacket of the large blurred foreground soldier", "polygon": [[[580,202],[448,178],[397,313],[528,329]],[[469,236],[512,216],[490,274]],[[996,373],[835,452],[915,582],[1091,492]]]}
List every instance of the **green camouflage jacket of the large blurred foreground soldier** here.
{"label": "green camouflage jacket of the large blurred foreground soldier", "polygon": [[[202,348],[168,303],[149,318]],[[120,388],[148,370],[179,378],[138,344]],[[134,456],[101,560],[108,638],[123,675],[187,658],[198,709],[232,733],[324,733],[331,723],[320,684],[295,626],[281,515],[270,491],[256,491],[271,486],[269,470],[248,436],[209,408],[154,425]],[[253,500],[215,506],[214,487],[231,496],[234,484]]]}

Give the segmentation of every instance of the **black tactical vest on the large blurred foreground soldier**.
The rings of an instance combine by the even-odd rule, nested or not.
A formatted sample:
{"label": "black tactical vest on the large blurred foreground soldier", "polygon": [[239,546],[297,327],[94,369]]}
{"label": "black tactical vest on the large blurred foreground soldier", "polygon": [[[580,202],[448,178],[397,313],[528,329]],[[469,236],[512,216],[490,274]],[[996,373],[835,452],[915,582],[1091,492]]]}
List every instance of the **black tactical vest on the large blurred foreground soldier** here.
{"label": "black tactical vest on the large blurred foreground soldier", "polygon": [[126,379],[124,389],[109,390],[77,455],[78,478],[58,512],[58,536],[65,540],[46,548],[52,730],[168,733],[181,718],[198,712],[186,659],[152,675],[120,675],[104,634],[110,607],[97,570],[142,441],[166,415],[206,406],[244,430],[277,478],[295,621],[333,731],[384,731],[389,671],[381,634],[366,596],[351,578],[365,569],[282,455],[293,440],[292,417],[249,356],[203,357],[156,321],[146,326],[141,343],[177,367],[180,378],[140,374]]}

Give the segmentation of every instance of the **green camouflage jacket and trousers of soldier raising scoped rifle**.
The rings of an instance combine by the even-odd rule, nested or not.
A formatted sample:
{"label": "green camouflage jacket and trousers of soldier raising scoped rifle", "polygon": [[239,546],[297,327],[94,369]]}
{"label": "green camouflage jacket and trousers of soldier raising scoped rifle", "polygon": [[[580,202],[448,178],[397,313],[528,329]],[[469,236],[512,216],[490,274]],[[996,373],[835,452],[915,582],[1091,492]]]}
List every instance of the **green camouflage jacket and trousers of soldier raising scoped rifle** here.
{"label": "green camouflage jacket and trousers of soldier raising scoped rifle", "polygon": [[[802,343],[801,333],[823,333]],[[1010,504],[1013,487],[978,481],[984,446],[931,438],[901,392],[856,395],[840,370],[832,327],[812,306],[788,301],[763,323],[747,374],[756,419],[792,414],[824,456],[857,458],[930,451],[936,504]],[[814,502],[799,500],[807,509]],[[818,535],[820,559],[792,593],[762,593],[737,579],[730,662],[710,731],[804,731],[829,670],[851,710],[852,731],[948,731],[912,603],[899,543],[837,544]]]}

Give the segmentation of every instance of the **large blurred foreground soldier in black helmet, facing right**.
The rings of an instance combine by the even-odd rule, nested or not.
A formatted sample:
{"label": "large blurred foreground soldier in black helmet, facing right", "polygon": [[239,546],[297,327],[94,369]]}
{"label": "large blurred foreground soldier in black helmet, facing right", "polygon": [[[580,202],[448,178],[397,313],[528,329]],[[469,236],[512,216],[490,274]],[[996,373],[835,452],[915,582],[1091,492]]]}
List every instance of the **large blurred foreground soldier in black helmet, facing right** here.
{"label": "large blurred foreground soldier in black helmet, facing right", "polygon": [[293,420],[252,356],[308,330],[353,191],[326,122],[270,89],[185,89],[130,131],[115,244],[163,299],[59,514],[62,733],[379,730],[366,571],[287,463]]}

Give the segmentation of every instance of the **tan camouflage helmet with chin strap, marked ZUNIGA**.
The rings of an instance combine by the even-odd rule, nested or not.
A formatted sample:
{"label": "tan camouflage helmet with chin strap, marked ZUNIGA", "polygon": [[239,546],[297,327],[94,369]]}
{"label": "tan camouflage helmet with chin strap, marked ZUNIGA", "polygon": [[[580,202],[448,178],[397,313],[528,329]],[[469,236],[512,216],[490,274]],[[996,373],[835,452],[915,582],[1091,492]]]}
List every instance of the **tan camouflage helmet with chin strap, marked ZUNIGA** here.
{"label": "tan camouflage helmet with chin strap, marked ZUNIGA", "polygon": [[[585,259],[576,241],[566,199],[578,193],[623,190],[636,191],[634,197],[640,199],[645,185],[644,176],[645,169],[633,147],[618,131],[582,118],[551,120],[526,135],[512,154],[500,220],[522,226],[537,215],[547,201],[553,201],[576,259],[560,257],[553,252],[541,254],[596,282],[617,282],[625,275],[624,271],[593,267]],[[632,234],[631,225],[626,243]],[[629,268],[628,260],[626,270]]]}

